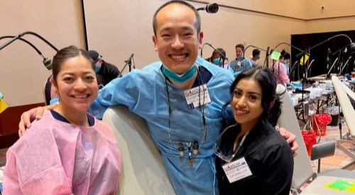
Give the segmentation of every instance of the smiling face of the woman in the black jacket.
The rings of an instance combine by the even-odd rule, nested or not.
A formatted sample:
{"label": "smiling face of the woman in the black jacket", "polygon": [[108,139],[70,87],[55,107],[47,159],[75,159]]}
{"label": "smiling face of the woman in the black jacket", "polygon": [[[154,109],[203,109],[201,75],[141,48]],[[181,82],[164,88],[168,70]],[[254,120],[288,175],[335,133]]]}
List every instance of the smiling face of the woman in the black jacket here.
{"label": "smiling face of the woman in the black jacket", "polygon": [[263,113],[262,90],[254,79],[241,79],[233,92],[231,109],[234,119],[241,124],[242,130],[251,130],[258,123]]}

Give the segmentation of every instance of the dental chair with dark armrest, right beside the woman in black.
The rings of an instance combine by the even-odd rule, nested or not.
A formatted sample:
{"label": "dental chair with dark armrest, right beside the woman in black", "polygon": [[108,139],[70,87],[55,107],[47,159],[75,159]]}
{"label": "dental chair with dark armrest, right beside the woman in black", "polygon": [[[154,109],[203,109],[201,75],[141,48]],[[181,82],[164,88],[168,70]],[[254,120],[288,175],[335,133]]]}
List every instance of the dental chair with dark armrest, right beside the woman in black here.
{"label": "dental chair with dark armrest, right beside the woman in black", "polygon": [[[278,84],[276,89],[278,94],[283,94],[282,113],[278,119],[278,126],[286,128],[297,137],[298,150],[294,158],[293,179],[290,194],[337,194],[334,190],[327,189],[324,184],[330,183],[339,178],[355,179],[355,172],[344,169],[330,169],[327,172],[314,172],[310,160],[318,160],[322,157],[334,155],[335,143],[313,145],[311,159],[308,157],[305,143],[302,139],[300,126],[290,96],[285,92],[285,87]],[[302,191],[302,186],[306,183],[308,186]]]}

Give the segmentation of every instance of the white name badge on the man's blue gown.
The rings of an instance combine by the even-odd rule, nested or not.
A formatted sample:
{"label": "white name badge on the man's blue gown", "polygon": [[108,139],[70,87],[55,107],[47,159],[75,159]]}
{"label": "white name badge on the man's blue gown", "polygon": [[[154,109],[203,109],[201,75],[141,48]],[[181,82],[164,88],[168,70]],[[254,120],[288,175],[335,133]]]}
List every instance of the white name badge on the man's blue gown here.
{"label": "white name badge on the man's blue gown", "polygon": [[206,84],[200,85],[199,87],[194,87],[192,89],[187,89],[184,91],[184,94],[187,105],[190,109],[194,109],[200,106],[200,104],[202,106],[211,102]]}

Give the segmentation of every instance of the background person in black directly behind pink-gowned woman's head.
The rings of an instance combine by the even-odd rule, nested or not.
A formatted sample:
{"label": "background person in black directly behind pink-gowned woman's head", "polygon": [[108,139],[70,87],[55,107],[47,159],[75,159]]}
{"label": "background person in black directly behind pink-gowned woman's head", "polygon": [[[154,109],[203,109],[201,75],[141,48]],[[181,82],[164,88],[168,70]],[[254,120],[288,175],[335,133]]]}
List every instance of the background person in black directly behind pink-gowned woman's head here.
{"label": "background person in black directly behind pink-gowned woman's head", "polygon": [[95,72],[97,74],[97,84],[99,84],[99,89],[119,76],[119,69],[115,65],[111,65],[102,60],[102,55],[99,55],[97,51],[89,50],[88,53],[92,58],[92,61],[95,63]]}

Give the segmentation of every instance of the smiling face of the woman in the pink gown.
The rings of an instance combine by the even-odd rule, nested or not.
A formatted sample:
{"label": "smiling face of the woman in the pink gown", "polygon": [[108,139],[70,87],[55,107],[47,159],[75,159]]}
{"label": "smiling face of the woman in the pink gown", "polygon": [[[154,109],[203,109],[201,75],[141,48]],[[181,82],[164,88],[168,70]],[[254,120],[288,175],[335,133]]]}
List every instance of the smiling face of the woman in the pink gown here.
{"label": "smiling face of the woman in the pink gown", "polygon": [[92,62],[82,55],[68,58],[60,65],[54,87],[62,109],[86,113],[99,89]]}

